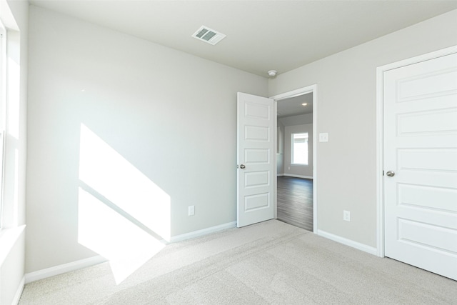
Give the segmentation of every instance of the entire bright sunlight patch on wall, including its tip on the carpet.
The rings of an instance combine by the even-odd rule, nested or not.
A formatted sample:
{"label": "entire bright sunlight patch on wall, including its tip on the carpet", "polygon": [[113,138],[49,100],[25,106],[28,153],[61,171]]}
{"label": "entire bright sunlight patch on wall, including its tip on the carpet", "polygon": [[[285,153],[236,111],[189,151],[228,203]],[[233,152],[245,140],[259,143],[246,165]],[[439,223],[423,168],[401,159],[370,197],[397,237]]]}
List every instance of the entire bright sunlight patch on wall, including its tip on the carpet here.
{"label": "entire bright sunlight patch on wall, including its tip on the carpet", "polygon": [[79,179],[79,244],[108,259],[119,284],[170,240],[171,198],[84,124]]}

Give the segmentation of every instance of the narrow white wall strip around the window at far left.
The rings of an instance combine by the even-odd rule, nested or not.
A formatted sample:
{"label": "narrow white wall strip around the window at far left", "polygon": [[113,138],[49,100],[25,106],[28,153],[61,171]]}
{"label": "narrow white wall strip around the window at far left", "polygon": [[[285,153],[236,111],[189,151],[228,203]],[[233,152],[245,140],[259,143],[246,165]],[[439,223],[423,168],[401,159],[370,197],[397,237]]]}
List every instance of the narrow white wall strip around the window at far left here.
{"label": "narrow white wall strip around the window at far left", "polygon": [[4,229],[0,231],[0,304],[15,304],[24,285],[26,99],[29,3],[0,1],[8,31]]}

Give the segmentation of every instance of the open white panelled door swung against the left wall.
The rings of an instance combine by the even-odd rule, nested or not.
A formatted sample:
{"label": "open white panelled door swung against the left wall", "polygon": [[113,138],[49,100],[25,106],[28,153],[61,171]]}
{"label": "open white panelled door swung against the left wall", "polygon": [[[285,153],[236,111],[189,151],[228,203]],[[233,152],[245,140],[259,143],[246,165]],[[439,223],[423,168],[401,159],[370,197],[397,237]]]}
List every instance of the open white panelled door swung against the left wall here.
{"label": "open white panelled door swung against the left wall", "polygon": [[273,219],[273,116],[273,99],[238,92],[238,227]]}

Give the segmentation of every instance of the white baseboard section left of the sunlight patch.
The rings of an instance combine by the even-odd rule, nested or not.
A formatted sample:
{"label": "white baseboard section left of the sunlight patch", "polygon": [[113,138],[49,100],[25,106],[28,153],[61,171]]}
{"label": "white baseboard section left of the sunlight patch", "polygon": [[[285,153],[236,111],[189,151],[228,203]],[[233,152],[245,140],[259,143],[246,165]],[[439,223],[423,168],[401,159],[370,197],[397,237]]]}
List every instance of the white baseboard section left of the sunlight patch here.
{"label": "white baseboard section left of the sunlight patch", "polygon": [[26,274],[25,283],[29,284],[32,281],[38,281],[39,279],[46,279],[48,277],[64,274],[69,271],[94,266],[96,264],[104,263],[105,261],[106,259],[103,256],[93,256],[89,257],[89,259],[81,259],[79,261],[72,261],[68,264],[62,264],[59,266],[34,271],[29,274]]}

